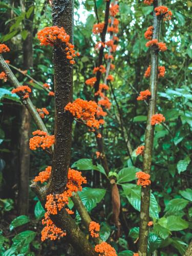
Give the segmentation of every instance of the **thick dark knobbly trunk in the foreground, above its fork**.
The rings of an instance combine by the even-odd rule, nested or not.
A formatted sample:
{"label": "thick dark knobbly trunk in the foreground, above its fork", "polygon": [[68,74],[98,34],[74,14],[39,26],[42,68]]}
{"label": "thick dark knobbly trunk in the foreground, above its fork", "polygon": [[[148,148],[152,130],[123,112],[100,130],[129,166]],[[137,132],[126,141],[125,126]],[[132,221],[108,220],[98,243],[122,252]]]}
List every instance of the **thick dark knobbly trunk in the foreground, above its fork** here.
{"label": "thick dark knobbly trunk in the foreground, above its fork", "polygon": [[[53,25],[63,27],[73,42],[73,0],[52,1]],[[73,65],[58,47],[53,50],[55,86],[55,146],[53,152],[50,193],[61,193],[67,184],[71,156],[72,121],[65,106],[72,101]]]}

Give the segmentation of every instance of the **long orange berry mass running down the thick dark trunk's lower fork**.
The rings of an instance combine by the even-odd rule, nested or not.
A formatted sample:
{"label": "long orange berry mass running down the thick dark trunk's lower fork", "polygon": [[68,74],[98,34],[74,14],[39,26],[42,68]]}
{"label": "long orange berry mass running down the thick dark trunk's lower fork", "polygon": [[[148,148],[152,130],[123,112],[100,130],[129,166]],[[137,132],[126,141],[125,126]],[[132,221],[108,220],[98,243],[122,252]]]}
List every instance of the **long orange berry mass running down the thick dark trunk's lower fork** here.
{"label": "long orange berry mass running down the thick dark trunk's lower fork", "polygon": [[[69,197],[74,192],[82,190],[82,183],[87,183],[86,178],[81,176],[81,172],[70,169],[68,172],[67,190],[63,191],[62,194],[48,195],[46,202],[47,212],[45,213],[45,219],[42,220],[42,224],[46,225],[41,232],[41,241],[46,239],[56,240],[60,237],[66,236],[66,232],[63,232],[60,228],[57,228],[50,219],[50,215],[56,215],[58,210],[60,211],[66,204],[69,203]],[[69,214],[73,214],[73,211],[66,208]]]}

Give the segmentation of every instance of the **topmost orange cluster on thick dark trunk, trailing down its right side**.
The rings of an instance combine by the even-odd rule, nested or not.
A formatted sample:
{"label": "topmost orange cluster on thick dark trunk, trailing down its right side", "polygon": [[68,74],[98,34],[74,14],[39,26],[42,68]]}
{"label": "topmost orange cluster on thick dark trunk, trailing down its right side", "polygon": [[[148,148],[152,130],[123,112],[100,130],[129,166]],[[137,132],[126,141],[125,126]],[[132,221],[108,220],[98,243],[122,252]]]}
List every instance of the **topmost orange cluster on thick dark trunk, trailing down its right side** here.
{"label": "topmost orange cluster on thick dark trunk, trailing down its right side", "polygon": [[[75,53],[74,45],[69,42],[70,36],[64,28],[57,26],[46,27],[37,33],[37,38],[40,41],[40,45],[60,46],[61,50],[66,53],[66,58],[70,60],[71,64],[75,64],[73,58],[80,55],[79,53]],[[63,43],[66,46],[65,49],[62,48]]]}

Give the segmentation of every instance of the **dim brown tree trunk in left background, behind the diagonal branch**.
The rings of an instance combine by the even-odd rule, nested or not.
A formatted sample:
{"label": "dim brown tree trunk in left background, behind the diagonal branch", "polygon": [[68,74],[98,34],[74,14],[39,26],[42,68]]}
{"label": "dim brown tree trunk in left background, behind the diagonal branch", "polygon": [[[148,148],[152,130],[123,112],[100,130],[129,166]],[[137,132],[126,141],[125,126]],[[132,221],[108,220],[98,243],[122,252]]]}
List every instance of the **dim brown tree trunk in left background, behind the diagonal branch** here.
{"label": "dim brown tree trunk in left background, behind the diagonal branch", "polygon": [[[34,7],[32,0],[25,1],[23,8],[28,11]],[[33,12],[24,20],[25,30],[28,31],[27,38],[23,41],[24,70],[33,67]],[[20,173],[18,180],[18,214],[27,215],[29,209],[29,170],[30,170],[30,121],[31,115],[25,106],[22,106],[22,125],[20,127]]]}

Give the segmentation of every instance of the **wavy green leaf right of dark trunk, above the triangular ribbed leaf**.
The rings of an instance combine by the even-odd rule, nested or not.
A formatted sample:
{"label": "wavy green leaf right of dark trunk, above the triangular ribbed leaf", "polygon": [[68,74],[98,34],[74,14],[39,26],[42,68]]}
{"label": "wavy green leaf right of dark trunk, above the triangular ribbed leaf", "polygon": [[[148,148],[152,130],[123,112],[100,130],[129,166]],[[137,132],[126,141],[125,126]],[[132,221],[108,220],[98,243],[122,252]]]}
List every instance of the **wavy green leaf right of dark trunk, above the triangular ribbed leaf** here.
{"label": "wavy green leaf right of dark trunk, above the triangular ribbed leaf", "polygon": [[92,163],[91,159],[82,158],[76,161],[72,168],[77,168],[78,170],[98,170],[100,173],[106,175],[104,168],[102,165],[98,164],[97,166]]}

